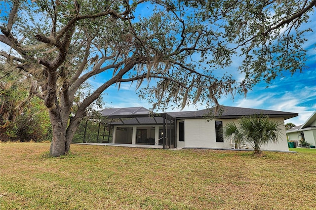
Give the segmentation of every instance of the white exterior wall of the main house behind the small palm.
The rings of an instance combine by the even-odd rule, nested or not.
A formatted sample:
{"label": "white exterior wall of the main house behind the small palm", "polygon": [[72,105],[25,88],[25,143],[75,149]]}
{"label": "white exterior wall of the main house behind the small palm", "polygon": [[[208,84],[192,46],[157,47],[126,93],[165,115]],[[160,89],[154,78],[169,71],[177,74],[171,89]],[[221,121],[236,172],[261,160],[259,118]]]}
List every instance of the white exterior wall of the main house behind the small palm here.
{"label": "white exterior wall of the main house behind the small palm", "polygon": [[[271,143],[269,145],[262,145],[261,149],[288,151],[284,120],[283,118],[274,119],[281,123],[279,141],[276,144]],[[185,119],[185,141],[179,141],[179,130],[177,126],[177,147],[231,148],[229,140],[226,140],[225,137],[224,142],[216,142],[215,121],[222,121],[223,127],[225,127],[228,122],[236,122],[237,119],[212,119],[209,121],[207,121],[206,119]]]}

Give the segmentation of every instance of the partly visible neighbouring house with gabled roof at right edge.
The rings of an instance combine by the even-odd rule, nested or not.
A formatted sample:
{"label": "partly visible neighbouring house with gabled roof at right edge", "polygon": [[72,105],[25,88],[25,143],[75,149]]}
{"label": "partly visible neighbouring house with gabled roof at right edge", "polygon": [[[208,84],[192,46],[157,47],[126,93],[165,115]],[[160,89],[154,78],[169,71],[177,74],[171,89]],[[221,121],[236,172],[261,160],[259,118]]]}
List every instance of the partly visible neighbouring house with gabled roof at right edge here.
{"label": "partly visible neighbouring house with gabled roof at right edge", "polygon": [[311,145],[316,145],[316,111],[300,126],[293,127],[286,131],[288,140],[305,140]]}

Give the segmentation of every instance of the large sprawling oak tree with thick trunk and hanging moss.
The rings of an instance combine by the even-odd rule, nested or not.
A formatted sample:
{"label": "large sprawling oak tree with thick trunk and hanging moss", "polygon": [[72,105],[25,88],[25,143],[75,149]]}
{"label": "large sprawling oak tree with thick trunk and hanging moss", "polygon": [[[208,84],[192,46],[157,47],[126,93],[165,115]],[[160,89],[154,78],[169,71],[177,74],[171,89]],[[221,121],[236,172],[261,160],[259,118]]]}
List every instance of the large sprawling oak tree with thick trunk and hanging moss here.
{"label": "large sprawling oak tree with thick trunk and hanging moss", "polygon": [[[137,82],[153,108],[218,105],[261,80],[305,68],[300,26],[316,0],[12,0],[1,2],[3,71],[20,71],[49,110],[50,154],[67,153],[86,108],[103,91]],[[242,60],[237,81],[226,70]],[[103,84],[72,113],[76,92]],[[143,81],[147,83],[143,84]],[[147,85],[146,85],[147,84]]]}

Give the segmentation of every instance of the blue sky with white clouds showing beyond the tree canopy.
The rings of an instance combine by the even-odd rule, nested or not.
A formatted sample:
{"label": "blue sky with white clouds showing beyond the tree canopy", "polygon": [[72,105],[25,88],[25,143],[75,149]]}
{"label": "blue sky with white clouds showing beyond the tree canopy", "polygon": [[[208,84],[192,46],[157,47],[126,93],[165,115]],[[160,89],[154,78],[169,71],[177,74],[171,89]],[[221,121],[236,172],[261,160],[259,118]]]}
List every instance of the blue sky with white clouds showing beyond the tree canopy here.
{"label": "blue sky with white clouds showing beyond the tree canopy", "polygon": [[[237,106],[245,108],[269,109],[278,111],[287,111],[298,113],[299,116],[285,121],[292,122],[295,125],[303,124],[309,116],[316,110],[316,14],[310,18],[310,22],[303,26],[311,27],[314,32],[306,34],[308,41],[304,44],[307,52],[307,70],[302,73],[296,72],[291,76],[290,73],[284,73],[283,76],[276,77],[269,87],[265,82],[261,82],[253,87],[246,96],[235,95],[222,97],[219,102],[221,105]],[[237,67],[240,61],[238,58],[229,73],[237,75]],[[235,68],[235,69],[234,69]],[[238,75],[237,75],[238,76]],[[242,76],[242,75],[240,75]],[[98,80],[91,81],[96,85]],[[104,100],[107,107],[132,107],[144,106],[150,108],[152,105],[146,100],[139,100],[134,84],[121,84],[120,89],[113,86],[105,91]],[[186,106],[183,110],[204,109],[203,105]],[[180,111],[179,109],[167,109],[168,111]]]}

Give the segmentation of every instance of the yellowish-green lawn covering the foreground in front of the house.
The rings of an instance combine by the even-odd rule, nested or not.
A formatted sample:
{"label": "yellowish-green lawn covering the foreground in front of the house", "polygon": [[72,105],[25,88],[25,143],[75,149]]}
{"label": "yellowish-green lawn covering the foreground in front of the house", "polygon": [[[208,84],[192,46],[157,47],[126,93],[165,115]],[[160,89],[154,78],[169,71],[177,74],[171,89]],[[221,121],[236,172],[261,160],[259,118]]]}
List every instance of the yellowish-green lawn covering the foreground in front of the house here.
{"label": "yellowish-green lawn covering the foreground in front of the house", "polygon": [[[0,144],[1,209],[316,209],[316,149],[298,153]],[[308,151],[308,152],[306,152]]]}

